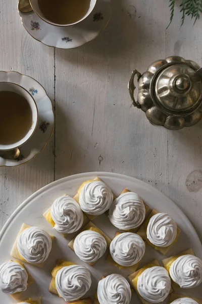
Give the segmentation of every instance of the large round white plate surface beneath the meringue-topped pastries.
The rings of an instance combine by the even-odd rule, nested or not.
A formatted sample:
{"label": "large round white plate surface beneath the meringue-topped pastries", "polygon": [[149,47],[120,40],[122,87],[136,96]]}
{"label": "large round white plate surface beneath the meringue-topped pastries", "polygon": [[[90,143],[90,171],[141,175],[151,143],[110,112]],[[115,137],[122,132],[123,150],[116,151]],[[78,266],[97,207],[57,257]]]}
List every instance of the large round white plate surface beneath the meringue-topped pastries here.
{"label": "large round white plate surface beneath the meringue-topped pastries", "polygon": [[[46,185],[31,195],[9,218],[0,234],[0,263],[11,258],[10,251],[23,222],[30,225],[41,226],[49,233],[57,237],[57,241],[54,242],[51,255],[45,262],[43,269],[38,269],[34,266],[26,264],[28,270],[36,281],[36,285],[33,284],[32,288],[30,286],[26,291],[27,297],[33,296],[36,298],[37,296],[42,295],[42,304],[65,303],[62,298],[48,292],[48,285],[51,282],[51,271],[55,267],[58,258],[83,264],[90,270],[93,283],[87,295],[91,296],[92,298],[96,292],[97,282],[102,276],[106,276],[111,273],[119,273],[127,278],[127,276],[131,274],[126,270],[119,270],[117,267],[108,264],[106,262],[108,252],[106,252],[106,254],[100,258],[93,267],[90,267],[87,263],[80,261],[75,253],[67,246],[68,240],[71,240],[75,234],[69,235],[67,239],[63,238],[60,234],[52,229],[51,225],[48,224],[48,222],[42,216],[43,212],[52,205],[56,198],[64,194],[74,196],[82,182],[93,179],[96,176],[100,177],[104,182],[106,182],[116,196],[118,196],[125,187],[128,187],[131,191],[138,193],[149,207],[170,214],[170,216],[179,225],[180,229],[182,230],[182,234],[179,237],[179,241],[173,246],[172,250],[170,250],[169,255],[192,248],[194,253],[198,257],[202,258],[202,245],[188,218],[169,198],[164,196],[154,187],[138,179],[116,173],[91,172],[68,176]],[[109,237],[114,237],[117,229],[110,223],[105,214],[98,216],[93,222],[107,235],[109,235]],[[146,254],[141,261],[141,265],[155,258],[161,262],[165,256],[158,253],[150,246],[146,246]],[[187,295],[189,294],[195,297],[199,297],[201,294],[200,288],[185,290],[185,292]],[[9,303],[9,298],[9,295],[3,294],[0,291],[1,303]],[[131,303],[136,302],[140,303],[137,295],[134,292]]]}

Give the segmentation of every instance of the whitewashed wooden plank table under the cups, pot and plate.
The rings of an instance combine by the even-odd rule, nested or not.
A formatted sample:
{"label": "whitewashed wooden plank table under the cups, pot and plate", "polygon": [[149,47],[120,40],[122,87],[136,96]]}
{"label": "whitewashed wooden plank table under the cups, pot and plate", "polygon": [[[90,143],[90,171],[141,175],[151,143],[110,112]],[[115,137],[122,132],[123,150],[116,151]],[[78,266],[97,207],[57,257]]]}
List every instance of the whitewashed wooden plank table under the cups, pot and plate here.
{"label": "whitewashed wooden plank table under the cups, pot and plate", "polygon": [[55,134],[33,161],[0,168],[0,228],[40,187],[87,171],[146,181],[175,201],[202,240],[202,122],[167,131],[131,106],[127,83],[153,61],[181,55],[202,65],[202,18],[171,26],[168,0],[114,0],[96,40],[75,50],[49,48],[23,28],[17,0],[0,0],[0,69],[30,75],[55,104]]}

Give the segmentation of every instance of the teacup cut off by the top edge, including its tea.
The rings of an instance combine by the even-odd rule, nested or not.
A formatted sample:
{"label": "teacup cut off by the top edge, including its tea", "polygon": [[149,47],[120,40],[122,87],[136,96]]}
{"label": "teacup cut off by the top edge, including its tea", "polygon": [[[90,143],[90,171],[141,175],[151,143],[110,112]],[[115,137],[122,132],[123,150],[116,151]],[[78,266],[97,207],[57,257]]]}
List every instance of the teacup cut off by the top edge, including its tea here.
{"label": "teacup cut off by the top edge, including its tea", "polygon": [[72,26],[86,19],[97,0],[29,0],[33,11],[55,26]]}

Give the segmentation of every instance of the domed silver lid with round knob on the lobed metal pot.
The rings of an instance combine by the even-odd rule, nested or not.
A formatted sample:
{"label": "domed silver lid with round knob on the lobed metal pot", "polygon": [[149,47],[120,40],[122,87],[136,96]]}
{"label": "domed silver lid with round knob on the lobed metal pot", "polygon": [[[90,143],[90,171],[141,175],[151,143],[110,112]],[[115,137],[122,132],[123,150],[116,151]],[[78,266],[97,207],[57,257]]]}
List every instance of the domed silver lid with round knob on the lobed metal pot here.
{"label": "domed silver lid with round knob on the lobed metal pot", "polygon": [[162,67],[150,88],[154,100],[168,115],[185,116],[201,102],[201,79],[187,62],[176,61]]}

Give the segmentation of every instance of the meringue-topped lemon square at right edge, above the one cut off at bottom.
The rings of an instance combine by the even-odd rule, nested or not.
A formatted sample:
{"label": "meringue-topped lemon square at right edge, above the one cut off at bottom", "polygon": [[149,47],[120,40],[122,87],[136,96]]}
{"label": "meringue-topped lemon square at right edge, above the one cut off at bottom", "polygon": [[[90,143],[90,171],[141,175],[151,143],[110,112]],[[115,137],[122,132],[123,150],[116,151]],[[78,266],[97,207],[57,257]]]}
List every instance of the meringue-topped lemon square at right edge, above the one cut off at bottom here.
{"label": "meringue-topped lemon square at right edge, above the one cut off at bottom", "polygon": [[202,260],[191,249],[163,260],[163,264],[173,282],[181,288],[194,288],[202,283]]}

